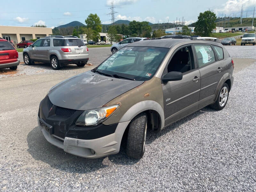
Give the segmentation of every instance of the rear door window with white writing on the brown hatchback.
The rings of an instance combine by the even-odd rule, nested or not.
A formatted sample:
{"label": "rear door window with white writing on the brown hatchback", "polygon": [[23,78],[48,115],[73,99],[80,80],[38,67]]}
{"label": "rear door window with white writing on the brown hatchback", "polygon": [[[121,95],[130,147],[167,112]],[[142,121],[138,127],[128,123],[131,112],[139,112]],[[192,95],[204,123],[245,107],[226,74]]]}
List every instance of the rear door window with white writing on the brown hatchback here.
{"label": "rear door window with white writing on the brown hatchback", "polygon": [[214,52],[210,45],[195,45],[199,67],[215,61]]}

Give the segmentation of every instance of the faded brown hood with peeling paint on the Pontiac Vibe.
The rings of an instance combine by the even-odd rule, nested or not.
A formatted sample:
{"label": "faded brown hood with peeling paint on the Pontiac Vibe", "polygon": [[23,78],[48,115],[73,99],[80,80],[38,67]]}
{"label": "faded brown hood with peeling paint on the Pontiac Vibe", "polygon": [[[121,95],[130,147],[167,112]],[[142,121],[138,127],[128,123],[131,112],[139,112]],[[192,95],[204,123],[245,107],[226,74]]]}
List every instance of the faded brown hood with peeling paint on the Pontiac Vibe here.
{"label": "faded brown hood with peeling paint on the Pontiac Vibe", "polygon": [[88,110],[102,107],[143,82],[117,79],[87,71],[58,84],[48,96],[53,105]]}

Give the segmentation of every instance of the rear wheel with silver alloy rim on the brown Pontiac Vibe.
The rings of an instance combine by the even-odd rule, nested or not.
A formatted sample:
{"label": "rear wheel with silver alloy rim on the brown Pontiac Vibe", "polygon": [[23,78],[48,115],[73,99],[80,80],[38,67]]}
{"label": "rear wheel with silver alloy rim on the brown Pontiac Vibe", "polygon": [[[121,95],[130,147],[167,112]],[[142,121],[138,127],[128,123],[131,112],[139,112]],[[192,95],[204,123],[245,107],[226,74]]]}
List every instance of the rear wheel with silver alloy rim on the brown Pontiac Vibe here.
{"label": "rear wheel with silver alloy rim on the brown Pontiac Vibe", "polygon": [[217,100],[215,101],[214,104],[211,105],[211,107],[215,110],[223,109],[228,102],[228,95],[229,95],[229,87],[228,87],[228,84],[224,83],[220,89]]}

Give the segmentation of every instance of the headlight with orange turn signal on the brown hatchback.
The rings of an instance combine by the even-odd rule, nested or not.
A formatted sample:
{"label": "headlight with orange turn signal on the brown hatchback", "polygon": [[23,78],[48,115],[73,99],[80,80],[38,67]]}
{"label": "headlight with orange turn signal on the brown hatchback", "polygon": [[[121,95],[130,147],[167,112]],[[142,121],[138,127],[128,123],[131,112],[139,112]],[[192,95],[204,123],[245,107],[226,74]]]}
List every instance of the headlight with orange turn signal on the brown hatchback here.
{"label": "headlight with orange turn signal on the brown hatchback", "polygon": [[97,109],[84,111],[76,121],[76,125],[89,126],[97,125],[111,116],[120,105],[112,105]]}

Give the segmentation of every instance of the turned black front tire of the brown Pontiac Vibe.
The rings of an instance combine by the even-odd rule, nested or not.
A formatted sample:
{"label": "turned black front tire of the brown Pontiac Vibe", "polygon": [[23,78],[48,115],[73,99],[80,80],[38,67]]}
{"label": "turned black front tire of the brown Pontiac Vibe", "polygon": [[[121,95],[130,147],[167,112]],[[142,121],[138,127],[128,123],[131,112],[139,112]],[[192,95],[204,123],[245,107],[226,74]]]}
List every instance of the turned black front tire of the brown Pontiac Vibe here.
{"label": "turned black front tire of the brown Pontiac Vibe", "polygon": [[129,125],[126,154],[131,158],[140,159],[144,154],[147,121],[147,114],[140,113],[132,119]]}

